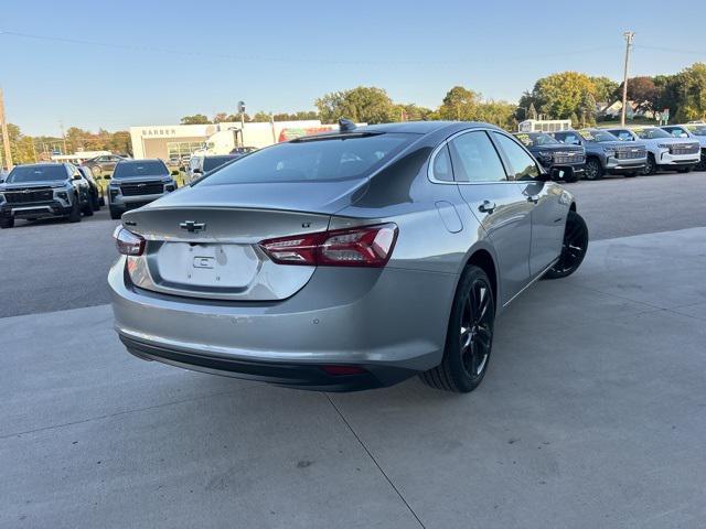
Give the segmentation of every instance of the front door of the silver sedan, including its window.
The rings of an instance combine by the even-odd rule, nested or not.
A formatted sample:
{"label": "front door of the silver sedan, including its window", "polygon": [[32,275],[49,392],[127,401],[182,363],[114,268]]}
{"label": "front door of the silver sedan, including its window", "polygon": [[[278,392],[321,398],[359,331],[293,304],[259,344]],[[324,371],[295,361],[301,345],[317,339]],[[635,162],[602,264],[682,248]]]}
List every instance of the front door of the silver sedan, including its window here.
{"label": "front door of the silver sedan, including its window", "polygon": [[532,237],[530,244],[530,276],[544,272],[561,252],[564,227],[568,208],[561,203],[561,186],[545,182],[535,160],[514,138],[493,131],[493,140],[509,165],[510,179],[515,182],[531,209]]}

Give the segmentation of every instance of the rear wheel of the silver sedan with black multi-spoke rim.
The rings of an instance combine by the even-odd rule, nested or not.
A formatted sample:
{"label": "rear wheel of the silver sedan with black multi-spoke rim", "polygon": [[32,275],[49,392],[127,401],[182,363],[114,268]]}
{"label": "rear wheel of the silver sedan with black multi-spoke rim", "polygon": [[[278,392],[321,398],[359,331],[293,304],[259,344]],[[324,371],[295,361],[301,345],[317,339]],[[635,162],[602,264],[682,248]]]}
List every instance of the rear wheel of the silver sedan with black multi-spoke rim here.
{"label": "rear wheel of the silver sedan with black multi-spoke rim", "polygon": [[493,347],[495,303],[485,272],[470,266],[453,298],[441,364],[419,378],[432,388],[473,391],[483,380]]}

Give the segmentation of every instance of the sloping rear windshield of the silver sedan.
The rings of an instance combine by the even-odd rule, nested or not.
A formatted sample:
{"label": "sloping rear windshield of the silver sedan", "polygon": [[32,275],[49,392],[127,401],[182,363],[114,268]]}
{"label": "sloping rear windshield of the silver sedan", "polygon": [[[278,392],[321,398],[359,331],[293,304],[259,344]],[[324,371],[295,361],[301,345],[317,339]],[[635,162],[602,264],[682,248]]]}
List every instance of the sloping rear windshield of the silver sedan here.
{"label": "sloping rear windshield of the silver sedan", "polygon": [[278,143],[236,160],[202,182],[210,185],[361,179],[417,138],[419,134],[384,133]]}

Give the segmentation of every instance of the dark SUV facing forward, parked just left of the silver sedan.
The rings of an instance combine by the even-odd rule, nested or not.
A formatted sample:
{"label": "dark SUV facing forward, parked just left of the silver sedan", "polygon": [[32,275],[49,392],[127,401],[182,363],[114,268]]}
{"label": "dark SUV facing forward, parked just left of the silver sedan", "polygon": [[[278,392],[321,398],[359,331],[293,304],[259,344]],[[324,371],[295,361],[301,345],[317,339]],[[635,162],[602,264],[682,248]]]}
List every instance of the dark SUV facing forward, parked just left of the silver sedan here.
{"label": "dark SUV facing forward, parked just left of the silver sedan", "polygon": [[122,160],[108,186],[110,218],[117,220],[130,209],[142,207],[176,190],[176,182],[161,160]]}

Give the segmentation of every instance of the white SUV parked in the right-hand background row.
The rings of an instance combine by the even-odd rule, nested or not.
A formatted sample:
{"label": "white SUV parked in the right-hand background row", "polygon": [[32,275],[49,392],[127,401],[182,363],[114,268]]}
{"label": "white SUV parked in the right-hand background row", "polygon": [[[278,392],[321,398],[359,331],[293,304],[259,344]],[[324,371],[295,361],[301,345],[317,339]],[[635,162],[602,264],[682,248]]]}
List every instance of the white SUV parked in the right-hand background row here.
{"label": "white SUV parked in the right-hand background row", "polygon": [[608,129],[608,132],[621,141],[645,145],[648,161],[643,174],[654,174],[657,170],[687,173],[700,161],[698,141],[674,138],[659,127],[620,127]]}

